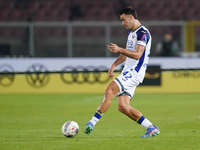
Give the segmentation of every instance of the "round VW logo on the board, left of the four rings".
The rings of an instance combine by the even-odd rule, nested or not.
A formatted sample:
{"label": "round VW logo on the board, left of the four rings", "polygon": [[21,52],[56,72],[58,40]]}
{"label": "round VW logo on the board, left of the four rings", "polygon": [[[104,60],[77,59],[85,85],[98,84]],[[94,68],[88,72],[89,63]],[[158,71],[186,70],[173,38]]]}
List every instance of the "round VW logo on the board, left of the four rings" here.
{"label": "round VW logo on the board, left of the four rings", "polygon": [[42,88],[49,82],[50,76],[47,67],[42,64],[31,65],[26,73],[26,81],[34,88]]}

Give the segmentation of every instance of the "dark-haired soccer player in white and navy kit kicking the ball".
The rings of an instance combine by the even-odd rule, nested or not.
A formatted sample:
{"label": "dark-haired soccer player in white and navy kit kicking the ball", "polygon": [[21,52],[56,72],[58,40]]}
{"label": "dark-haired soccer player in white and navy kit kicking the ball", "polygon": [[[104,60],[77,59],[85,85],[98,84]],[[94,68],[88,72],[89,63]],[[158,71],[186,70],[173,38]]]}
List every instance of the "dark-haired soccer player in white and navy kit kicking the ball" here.
{"label": "dark-haired soccer player in white and navy kit kicking the ball", "polygon": [[112,99],[117,96],[118,110],[130,119],[147,128],[147,132],[141,138],[156,136],[159,129],[145,118],[138,110],[129,105],[134,95],[135,88],[142,83],[151,48],[151,35],[147,28],[141,25],[137,13],[132,7],[126,7],[120,12],[120,20],[126,29],[130,29],[126,43],[126,49],[111,43],[108,49],[112,53],[120,53],[120,56],[112,64],[108,71],[109,77],[113,78],[115,67],[123,62],[124,68],[121,74],[107,87],[102,103],[97,108],[92,119],[86,124],[85,133],[90,134],[95,124],[110,107]]}

